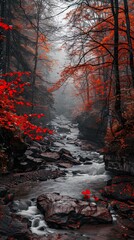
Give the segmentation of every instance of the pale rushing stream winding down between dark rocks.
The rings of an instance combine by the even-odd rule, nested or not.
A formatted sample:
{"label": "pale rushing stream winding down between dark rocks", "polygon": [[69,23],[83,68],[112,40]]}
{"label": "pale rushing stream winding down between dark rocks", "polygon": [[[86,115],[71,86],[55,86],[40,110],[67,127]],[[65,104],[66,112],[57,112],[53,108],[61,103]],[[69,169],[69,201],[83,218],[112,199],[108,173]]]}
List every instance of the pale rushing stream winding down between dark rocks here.
{"label": "pale rushing stream winding down between dark rocks", "polygon": [[[25,186],[19,184],[16,188],[16,204],[19,205],[20,201],[23,203],[29,201],[28,210],[22,207],[17,214],[27,217],[31,222],[30,230],[39,236],[47,236],[49,233],[63,231],[50,229],[47,226],[43,220],[43,216],[36,207],[36,198],[39,195],[48,192],[58,192],[62,195],[82,199],[81,192],[85,189],[90,189],[93,194],[99,197],[99,190],[101,190],[111,178],[110,174],[105,171],[103,156],[101,154],[95,151],[82,150],[81,140],[78,139],[79,131],[77,124],[72,124],[64,116],[60,116],[53,120],[51,125],[55,130],[52,139],[53,143],[50,143],[51,150],[59,151],[61,148],[65,148],[69,150],[76,159],[80,157],[88,158],[88,162],[67,168],[64,177],[59,177],[54,180],[38,181],[33,184],[27,183]],[[49,165],[47,166],[47,168],[51,167],[52,166]],[[53,166],[53,168],[57,167]],[[115,218],[114,215],[113,218]],[[114,225],[116,225],[116,221]],[[81,236],[83,236],[81,239],[105,240],[112,239],[107,237],[111,234],[112,230],[113,224],[99,224],[90,226],[90,229],[88,226],[82,226],[79,230],[73,232],[74,234],[81,234]],[[68,232],[69,231],[71,230],[68,230]]]}

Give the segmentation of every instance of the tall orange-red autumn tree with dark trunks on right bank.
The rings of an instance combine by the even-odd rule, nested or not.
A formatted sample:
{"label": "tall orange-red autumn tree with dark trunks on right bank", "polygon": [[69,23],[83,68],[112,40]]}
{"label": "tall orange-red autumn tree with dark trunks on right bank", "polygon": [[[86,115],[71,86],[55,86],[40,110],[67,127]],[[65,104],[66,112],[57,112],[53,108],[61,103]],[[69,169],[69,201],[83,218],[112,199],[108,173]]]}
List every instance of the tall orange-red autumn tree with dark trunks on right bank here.
{"label": "tall orange-red autumn tree with dark trunks on right bank", "polygon": [[[85,91],[89,91],[88,107],[84,100],[84,109],[91,112],[91,108],[98,108],[102,117],[108,117],[108,126],[113,128],[111,134],[114,137],[117,129],[127,131],[128,119],[130,121],[134,114],[133,2],[68,2],[71,4],[66,15],[69,33],[65,38],[65,47],[70,65],[66,66],[59,81],[49,90],[54,91],[68,79],[73,79],[77,95],[84,96]],[[86,89],[81,88],[85,74]],[[128,106],[131,113],[128,113]]]}

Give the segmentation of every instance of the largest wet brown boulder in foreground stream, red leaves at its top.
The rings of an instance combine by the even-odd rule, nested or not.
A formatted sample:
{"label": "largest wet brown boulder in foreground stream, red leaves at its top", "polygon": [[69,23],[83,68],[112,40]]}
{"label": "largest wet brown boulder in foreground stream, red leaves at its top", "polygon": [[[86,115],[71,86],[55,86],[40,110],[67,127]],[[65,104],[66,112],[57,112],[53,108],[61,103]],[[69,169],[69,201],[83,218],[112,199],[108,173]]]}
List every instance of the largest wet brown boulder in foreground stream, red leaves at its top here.
{"label": "largest wet brown boulder in foreground stream, red leaves at its top", "polygon": [[112,217],[105,207],[94,211],[89,202],[58,193],[46,193],[37,198],[37,207],[50,227],[77,229],[86,223],[111,223]]}

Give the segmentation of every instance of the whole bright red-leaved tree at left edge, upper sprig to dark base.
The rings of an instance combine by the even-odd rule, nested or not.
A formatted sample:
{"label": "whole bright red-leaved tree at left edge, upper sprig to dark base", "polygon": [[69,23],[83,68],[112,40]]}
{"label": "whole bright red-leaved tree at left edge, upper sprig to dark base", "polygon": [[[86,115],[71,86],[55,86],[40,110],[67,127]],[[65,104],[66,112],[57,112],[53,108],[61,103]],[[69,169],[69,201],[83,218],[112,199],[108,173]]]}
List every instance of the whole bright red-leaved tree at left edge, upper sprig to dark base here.
{"label": "whole bright red-leaved tree at left edge, upper sprig to dark base", "polygon": [[[25,101],[22,97],[25,89],[31,86],[29,82],[31,74],[15,70],[5,73],[5,69],[9,70],[9,65],[13,66],[12,54],[9,54],[7,58],[8,64],[5,63],[4,54],[7,53],[5,51],[7,49],[7,32],[14,31],[14,25],[9,25],[4,21],[4,18],[0,19],[0,40],[1,45],[4,46],[1,55],[1,62],[3,61],[4,65],[1,65],[0,69],[0,158],[2,157],[6,161],[7,154],[10,155],[13,152],[11,145],[14,141],[22,144],[26,136],[32,140],[42,140],[46,133],[52,134],[52,131],[31,123],[31,118],[40,119],[44,117],[43,113],[24,114],[18,111],[18,106],[24,107],[25,110],[26,107],[32,106],[32,103]],[[12,48],[11,43],[12,41],[8,42],[10,48]]]}

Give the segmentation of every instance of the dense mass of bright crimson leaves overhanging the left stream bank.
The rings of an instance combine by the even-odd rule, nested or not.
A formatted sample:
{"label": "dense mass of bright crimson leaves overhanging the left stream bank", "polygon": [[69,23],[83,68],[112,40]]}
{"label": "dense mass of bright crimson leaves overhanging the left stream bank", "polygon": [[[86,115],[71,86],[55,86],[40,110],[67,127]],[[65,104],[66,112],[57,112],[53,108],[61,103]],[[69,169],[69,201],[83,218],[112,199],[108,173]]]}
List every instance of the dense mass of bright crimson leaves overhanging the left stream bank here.
{"label": "dense mass of bright crimson leaves overhanging the left stream bank", "polygon": [[[42,140],[46,133],[52,134],[48,128],[36,126],[30,122],[31,117],[41,118],[44,114],[18,115],[16,105],[31,106],[31,103],[18,101],[20,94],[29,82],[22,82],[21,77],[29,76],[29,72],[11,72],[0,75],[0,127],[13,131],[17,135],[27,135],[31,139]],[[6,81],[10,77],[10,82]]]}

